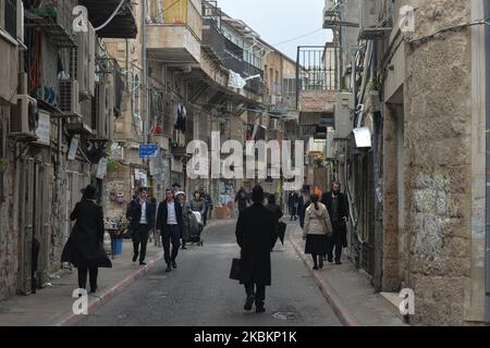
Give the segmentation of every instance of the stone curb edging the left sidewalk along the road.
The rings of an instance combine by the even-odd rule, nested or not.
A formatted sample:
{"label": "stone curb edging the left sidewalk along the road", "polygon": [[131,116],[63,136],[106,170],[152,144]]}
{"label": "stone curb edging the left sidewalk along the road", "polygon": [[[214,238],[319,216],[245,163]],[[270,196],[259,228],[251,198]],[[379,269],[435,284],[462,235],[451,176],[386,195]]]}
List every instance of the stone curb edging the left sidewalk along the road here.
{"label": "stone curb edging the left sidewalk along the road", "polygon": [[[159,252],[155,260],[149,261],[144,268],[139,268],[136,271],[133,271],[130,275],[127,275],[124,279],[120,281],[118,284],[112,286],[110,289],[106,290],[101,296],[97,296],[96,299],[89,301],[88,303],[88,312],[95,312],[97,309],[109,302],[113,299],[118,294],[122,293],[130,284],[135,282],[137,278],[148,274],[151,269],[155,268],[157,262],[163,259],[163,252]],[[79,320],[85,318],[86,315],[76,315],[73,312],[66,314],[62,320],[56,322],[52,326],[70,326],[77,323]]]}

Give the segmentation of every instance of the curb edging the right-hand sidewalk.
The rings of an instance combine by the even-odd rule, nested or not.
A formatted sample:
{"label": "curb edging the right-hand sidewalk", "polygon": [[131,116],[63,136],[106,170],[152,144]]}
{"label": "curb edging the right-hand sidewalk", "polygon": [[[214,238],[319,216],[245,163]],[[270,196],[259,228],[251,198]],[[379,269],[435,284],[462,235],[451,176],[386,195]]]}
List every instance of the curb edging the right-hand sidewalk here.
{"label": "curb edging the right-hand sidewalk", "polygon": [[320,287],[321,293],[327,299],[327,302],[332,307],[335,314],[339,316],[342,324],[346,326],[363,326],[355,316],[347,310],[347,308],[344,306],[341,297],[338,295],[335,289],[329,284],[328,281],[320,277],[317,272],[311,270],[310,264],[308,263],[308,259],[306,258],[305,253],[302,250],[302,247],[298,245],[297,241],[294,240],[294,237],[292,237],[292,234],[289,234],[289,240],[293,245],[294,250],[296,251],[297,256],[303,260],[306,268],[308,269],[309,273],[311,274],[311,277],[315,279],[315,283]]}

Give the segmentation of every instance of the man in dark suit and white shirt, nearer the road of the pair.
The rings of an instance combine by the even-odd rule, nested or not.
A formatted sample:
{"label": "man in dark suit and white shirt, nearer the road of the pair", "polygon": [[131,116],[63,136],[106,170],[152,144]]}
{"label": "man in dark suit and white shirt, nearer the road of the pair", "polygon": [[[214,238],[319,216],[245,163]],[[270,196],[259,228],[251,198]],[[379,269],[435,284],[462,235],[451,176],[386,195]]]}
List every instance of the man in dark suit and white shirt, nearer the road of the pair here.
{"label": "man in dark suit and white shirt, nearer the road of the pair", "polygon": [[[176,269],[176,257],[181,247],[182,226],[184,224],[182,216],[182,207],[175,201],[172,189],[167,189],[166,200],[158,207],[157,232],[161,235],[163,244],[163,253],[167,262],[166,272]],[[172,243],[172,252],[170,252],[170,243]]]}

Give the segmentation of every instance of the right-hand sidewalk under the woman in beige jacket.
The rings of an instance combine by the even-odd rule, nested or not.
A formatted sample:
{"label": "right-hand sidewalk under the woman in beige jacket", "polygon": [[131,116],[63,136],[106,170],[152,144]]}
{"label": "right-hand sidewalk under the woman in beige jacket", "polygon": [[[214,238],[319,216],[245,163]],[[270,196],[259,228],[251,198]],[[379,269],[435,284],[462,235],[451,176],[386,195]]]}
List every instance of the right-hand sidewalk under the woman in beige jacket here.
{"label": "right-hand sidewalk under the woman in beige jacket", "polygon": [[322,271],[313,271],[313,260],[305,254],[299,226],[289,228],[289,239],[343,324],[348,326],[404,326],[395,308],[376,294],[367,277],[345,257],[342,265],[326,262]]}

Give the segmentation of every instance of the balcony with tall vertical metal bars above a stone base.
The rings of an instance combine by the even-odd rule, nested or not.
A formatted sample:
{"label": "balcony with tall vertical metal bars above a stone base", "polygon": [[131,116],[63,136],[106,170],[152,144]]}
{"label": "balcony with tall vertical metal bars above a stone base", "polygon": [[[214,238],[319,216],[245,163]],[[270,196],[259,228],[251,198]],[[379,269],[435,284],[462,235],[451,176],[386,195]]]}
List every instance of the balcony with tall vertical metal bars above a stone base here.
{"label": "balcony with tall vertical metal bars above a stone base", "polygon": [[334,123],[339,86],[335,54],[330,47],[298,47],[296,88],[301,126],[323,128]]}

